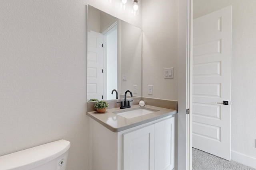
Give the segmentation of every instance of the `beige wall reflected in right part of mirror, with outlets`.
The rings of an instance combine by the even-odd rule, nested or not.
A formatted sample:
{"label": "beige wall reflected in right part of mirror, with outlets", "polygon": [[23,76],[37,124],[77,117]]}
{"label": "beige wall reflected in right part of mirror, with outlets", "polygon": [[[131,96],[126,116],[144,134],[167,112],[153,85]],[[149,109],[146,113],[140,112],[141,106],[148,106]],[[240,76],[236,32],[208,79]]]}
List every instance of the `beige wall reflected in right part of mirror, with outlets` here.
{"label": "beige wall reflected in right part of mirror, with outlets", "polygon": [[[127,74],[127,81],[120,80],[120,94],[130,90],[133,96],[142,96],[142,30],[120,21],[120,77]],[[133,85],[137,85],[134,93]],[[130,96],[130,93],[127,94]]]}

